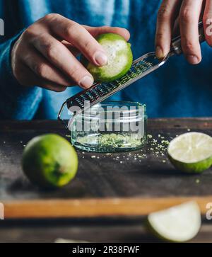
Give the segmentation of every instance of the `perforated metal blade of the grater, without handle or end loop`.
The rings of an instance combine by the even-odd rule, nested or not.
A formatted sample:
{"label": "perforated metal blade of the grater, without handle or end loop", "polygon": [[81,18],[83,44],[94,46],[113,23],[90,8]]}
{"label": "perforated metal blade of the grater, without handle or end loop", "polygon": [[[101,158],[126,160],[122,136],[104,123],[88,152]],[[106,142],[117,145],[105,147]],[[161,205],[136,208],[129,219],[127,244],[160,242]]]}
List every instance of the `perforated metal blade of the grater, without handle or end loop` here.
{"label": "perforated metal blade of the grater, without handle or end loop", "polygon": [[112,96],[114,93],[126,88],[133,84],[135,81],[141,79],[143,76],[153,72],[155,69],[158,69],[160,66],[165,64],[167,58],[163,60],[158,60],[155,57],[155,52],[148,53],[136,59],[126,75],[122,76],[121,79],[117,79],[111,83],[102,83],[94,84],[91,88],[88,88],[85,91],[81,91],[69,98],[66,103],[67,107],[78,106],[83,112],[86,108],[85,101],[90,102],[90,107],[96,103],[100,103],[106,98]]}

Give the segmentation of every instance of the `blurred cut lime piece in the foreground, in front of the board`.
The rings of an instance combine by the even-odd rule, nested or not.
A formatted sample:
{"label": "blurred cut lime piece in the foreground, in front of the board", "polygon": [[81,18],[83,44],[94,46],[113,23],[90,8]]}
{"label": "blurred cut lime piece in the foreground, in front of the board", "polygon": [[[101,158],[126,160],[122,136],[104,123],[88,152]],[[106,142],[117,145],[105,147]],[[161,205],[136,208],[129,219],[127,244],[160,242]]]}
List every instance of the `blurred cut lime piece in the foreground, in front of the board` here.
{"label": "blurred cut lime piece in the foreground, in front of the board", "polygon": [[196,202],[185,202],[148,215],[148,226],[155,236],[165,241],[185,242],[198,234],[201,212]]}

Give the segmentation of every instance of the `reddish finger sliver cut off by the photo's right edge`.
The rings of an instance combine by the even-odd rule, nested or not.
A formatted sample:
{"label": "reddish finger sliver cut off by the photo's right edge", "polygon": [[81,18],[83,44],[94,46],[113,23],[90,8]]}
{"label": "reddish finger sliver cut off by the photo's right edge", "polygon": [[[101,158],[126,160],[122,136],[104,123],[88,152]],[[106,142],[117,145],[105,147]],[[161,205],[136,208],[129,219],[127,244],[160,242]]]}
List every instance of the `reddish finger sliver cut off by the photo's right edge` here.
{"label": "reddish finger sliver cut off by the photo's right edge", "polygon": [[206,1],[206,8],[204,12],[204,32],[208,45],[212,47],[212,1]]}

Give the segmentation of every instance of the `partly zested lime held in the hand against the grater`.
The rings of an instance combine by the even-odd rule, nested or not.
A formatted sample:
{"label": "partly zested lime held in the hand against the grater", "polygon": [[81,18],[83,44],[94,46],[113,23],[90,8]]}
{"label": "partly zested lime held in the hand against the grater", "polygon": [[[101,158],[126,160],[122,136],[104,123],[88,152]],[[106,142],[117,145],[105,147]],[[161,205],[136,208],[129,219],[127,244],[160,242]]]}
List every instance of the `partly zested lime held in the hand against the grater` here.
{"label": "partly zested lime held in the hand against the grater", "polygon": [[82,57],[83,64],[93,75],[94,80],[100,83],[111,82],[124,76],[133,62],[131,44],[126,42],[122,36],[113,33],[102,34],[97,41],[107,53],[107,64],[97,67]]}

